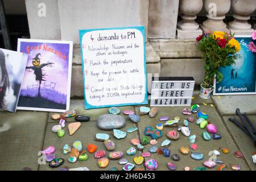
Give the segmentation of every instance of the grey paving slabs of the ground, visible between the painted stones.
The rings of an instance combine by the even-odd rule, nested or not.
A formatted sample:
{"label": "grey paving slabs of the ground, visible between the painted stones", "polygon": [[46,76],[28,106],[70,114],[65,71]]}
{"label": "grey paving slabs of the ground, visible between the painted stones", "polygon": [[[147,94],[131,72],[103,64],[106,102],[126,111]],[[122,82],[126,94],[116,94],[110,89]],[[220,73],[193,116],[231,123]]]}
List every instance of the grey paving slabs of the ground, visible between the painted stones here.
{"label": "grey paving slabs of the ground, visible between the painted stones", "polygon": [[[228,121],[230,117],[236,117],[235,109],[240,107],[241,113],[249,113],[249,117],[256,125],[256,107],[255,101],[256,96],[212,96],[210,100],[202,100],[198,97],[198,91],[194,94],[194,99],[192,104],[199,104],[201,106],[201,111],[209,114],[209,119],[211,123],[214,123],[218,127],[218,133],[222,135],[220,140],[209,140],[205,141],[201,134],[204,130],[201,130],[196,123],[189,123],[191,128],[191,134],[196,135],[196,143],[198,149],[195,152],[201,152],[204,154],[204,160],[210,158],[208,155],[209,151],[220,150],[219,148],[229,148],[229,154],[223,154],[219,159],[222,159],[227,170],[232,170],[230,165],[240,164],[242,170],[256,170],[256,164],[253,163],[251,158],[252,154],[256,151],[252,140],[247,137],[237,126]],[[138,114],[139,106],[127,106],[119,107],[121,110],[133,109]],[[126,118],[126,125],[121,129],[126,131],[129,127],[138,127],[139,130],[134,133],[127,133],[127,137],[121,140],[115,139],[113,137],[113,131],[103,131],[97,128],[96,121],[97,118],[108,113],[108,108],[104,109],[94,109],[94,110],[84,110],[83,100],[71,100],[71,109],[75,109],[83,115],[89,115],[91,120],[89,122],[82,123],[80,129],[72,136],[69,136],[67,126],[65,131],[67,132],[63,138],[57,137],[56,133],[51,131],[53,125],[56,125],[56,121],[52,121],[51,114],[47,112],[39,111],[17,111],[16,113],[7,113],[6,111],[0,112],[0,170],[21,170],[24,167],[30,167],[32,170],[58,170],[59,168],[49,168],[48,163],[46,165],[38,164],[38,152],[43,148],[48,146],[55,146],[55,155],[60,158],[65,159],[65,163],[61,167],[76,168],[76,167],[88,167],[90,170],[108,170],[111,167],[116,167],[121,170],[123,165],[118,164],[118,160],[110,160],[109,166],[106,168],[100,168],[97,164],[97,159],[94,159],[93,154],[89,154],[89,159],[85,162],[80,162],[77,160],[76,163],[69,163],[68,156],[63,154],[64,144],[72,143],[76,140],[80,140],[85,149],[86,145],[89,143],[94,143],[98,149],[105,150],[103,142],[96,142],[94,136],[96,133],[107,133],[110,135],[115,143],[115,151],[123,151],[123,158],[129,160],[129,162],[134,163],[133,158],[135,156],[141,155],[141,151],[137,151],[135,155],[126,155],[126,150],[131,147],[130,140],[133,138],[142,138],[144,135],[144,127],[146,126],[156,126],[159,122],[159,118],[163,115],[168,115],[170,118],[175,116],[180,117],[179,125],[183,125],[183,120],[187,117],[181,113],[184,107],[158,107],[158,114],[155,118],[150,118],[148,115],[141,116],[141,121],[139,123],[131,122],[127,115],[123,115]],[[196,115],[193,114],[196,118]],[[68,118],[68,123],[75,121],[74,118]],[[167,139],[166,133],[171,130],[170,127],[164,127],[163,137],[158,139],[158,146]],[[183,155],[179,151],[180,146],[190,146],[189,140],[183,134],[181,134],[180,139],[177,141],[171,141],[171,145],[168,147],[172,154],[178,154],[180,160],[174,162],[170,157],[165,158],[163,155],[152,154],[151,158],[157,160],[159,164],[158,170],[168,170],[166,167],[167,162],[174,162],[177,166],[177,170],[183,170],[185,166],[189,166],[191,169],[195,167],[203,166],[204,160],[194,160],[189,155]],[[151,144],[144,147],[144,152],[148,151]],[[192,150],[191,150],[192,151]],[[245,158],[236,158],[233,155],[235,151],[241,151]],[[192,151],[193,152],[193,151]],[[135,169],[146,169],[143,165],[136,165]],[[217,170],[218,165],[213,169],[207,170]]]}

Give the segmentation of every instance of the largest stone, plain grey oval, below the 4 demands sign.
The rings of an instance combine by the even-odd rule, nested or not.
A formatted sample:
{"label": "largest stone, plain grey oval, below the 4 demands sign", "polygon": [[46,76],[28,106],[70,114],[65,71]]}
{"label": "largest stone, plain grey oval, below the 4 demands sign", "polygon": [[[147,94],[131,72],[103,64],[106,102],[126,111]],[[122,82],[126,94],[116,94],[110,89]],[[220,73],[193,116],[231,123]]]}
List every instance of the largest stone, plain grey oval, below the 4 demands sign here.
{"label": "largest stone, plain grey oval, below the 4 demands sign", "polygon": [[102,130],[121,129],[125,126],[125,118],[116,114],[104,114],[98,118],[97,126]]}

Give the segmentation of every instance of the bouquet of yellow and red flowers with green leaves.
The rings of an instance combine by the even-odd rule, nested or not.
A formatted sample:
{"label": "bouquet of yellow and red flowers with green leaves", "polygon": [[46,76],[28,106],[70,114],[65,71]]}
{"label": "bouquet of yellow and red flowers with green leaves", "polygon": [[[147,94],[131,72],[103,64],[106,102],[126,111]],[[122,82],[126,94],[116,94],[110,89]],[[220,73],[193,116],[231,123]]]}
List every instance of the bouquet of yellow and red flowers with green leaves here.
{"label": "bouquet of yellow and red flowers with green leaves", "polygon": [[218,71],[221,67],[235,64],[240,56],[240,43],[228,32],[206,32],[196,38],[197,48],[203,53],[205,60],[204,88],[213,88],[213,80],[216,76],[221,81],[223,76]]}

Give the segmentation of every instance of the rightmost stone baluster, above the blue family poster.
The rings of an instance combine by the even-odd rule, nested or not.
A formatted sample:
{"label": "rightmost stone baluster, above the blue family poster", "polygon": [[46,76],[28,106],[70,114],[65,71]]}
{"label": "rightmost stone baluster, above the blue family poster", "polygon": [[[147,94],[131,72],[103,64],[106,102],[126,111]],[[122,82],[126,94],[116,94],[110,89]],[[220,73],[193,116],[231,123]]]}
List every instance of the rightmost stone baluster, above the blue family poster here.
{"label": "rightmost stone baluster, above the blue family poster", "polygon": [[247,22],[256,9],[256,0],[232,0],[234,20],[229,22],[229,29],[236,35],[250,35],[253,32],[251,24]]}

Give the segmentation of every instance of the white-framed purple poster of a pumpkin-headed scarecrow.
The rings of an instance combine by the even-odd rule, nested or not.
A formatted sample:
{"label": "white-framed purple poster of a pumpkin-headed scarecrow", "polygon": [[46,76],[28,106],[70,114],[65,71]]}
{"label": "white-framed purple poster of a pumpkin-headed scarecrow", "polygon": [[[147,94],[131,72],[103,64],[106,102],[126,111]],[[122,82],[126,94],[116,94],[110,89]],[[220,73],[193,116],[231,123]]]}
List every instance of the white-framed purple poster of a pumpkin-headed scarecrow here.
{"label": "white-framed purple poster of a pumpkin-headed scarecrow", "polygon": [[73,43],[18,39],[18,51],[29,56],[17,109],[68,110]]}

